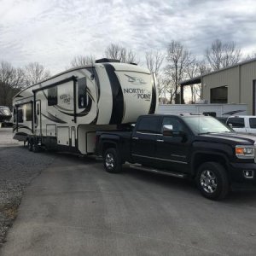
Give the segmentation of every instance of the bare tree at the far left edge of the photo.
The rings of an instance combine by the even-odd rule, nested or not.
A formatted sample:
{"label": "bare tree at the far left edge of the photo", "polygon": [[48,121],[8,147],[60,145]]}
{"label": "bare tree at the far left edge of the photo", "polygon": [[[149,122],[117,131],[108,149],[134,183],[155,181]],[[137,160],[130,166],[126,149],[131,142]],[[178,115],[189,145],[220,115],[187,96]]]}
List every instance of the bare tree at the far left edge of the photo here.
{"label": "bare tree at the far left edge of the photo", "polygon": [[24,72],[9,62],[0,63],[0,105],[12,107],[12,97],[24,85]]}

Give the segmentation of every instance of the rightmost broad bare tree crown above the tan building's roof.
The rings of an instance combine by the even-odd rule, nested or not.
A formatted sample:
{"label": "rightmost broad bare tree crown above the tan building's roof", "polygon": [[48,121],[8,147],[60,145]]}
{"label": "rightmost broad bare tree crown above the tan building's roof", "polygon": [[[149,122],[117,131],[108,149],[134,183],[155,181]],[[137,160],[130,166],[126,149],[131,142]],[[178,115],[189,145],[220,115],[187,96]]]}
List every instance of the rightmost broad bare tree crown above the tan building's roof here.
{"label": "rightmost broad bare tree crown above the tan building's roof", "polygon": [[213,70],[229,67],[241,59],[241,49],[237,49],[236,43],[231,41],[222,43],[219,39],[212,42],[206,50],[206,58]]}

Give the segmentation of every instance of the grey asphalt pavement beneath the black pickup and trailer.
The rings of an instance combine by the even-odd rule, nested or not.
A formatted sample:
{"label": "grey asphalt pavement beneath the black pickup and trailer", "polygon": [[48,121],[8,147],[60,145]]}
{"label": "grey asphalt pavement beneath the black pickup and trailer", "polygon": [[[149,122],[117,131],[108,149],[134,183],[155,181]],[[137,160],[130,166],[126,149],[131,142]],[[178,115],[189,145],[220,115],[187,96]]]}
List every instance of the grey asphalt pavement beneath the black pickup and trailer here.
{"label": "grey asphalt pavement beneath the black pickup and trailer", "polygon": [[0,129],[0,159],[15,175],[37,174],[1,255],[255,255],[256,192],[209,201],[186,180],[129,166],[109,174],[92,158],[33,154],[11,137]]}

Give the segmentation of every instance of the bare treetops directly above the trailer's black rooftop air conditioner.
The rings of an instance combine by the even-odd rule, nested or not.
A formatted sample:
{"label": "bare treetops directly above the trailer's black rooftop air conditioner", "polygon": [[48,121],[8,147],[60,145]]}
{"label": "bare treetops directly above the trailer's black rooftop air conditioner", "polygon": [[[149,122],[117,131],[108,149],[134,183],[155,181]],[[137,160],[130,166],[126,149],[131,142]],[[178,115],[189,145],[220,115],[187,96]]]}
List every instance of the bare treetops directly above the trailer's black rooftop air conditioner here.
{"label": "bare treetops directly above the trailer's black rooftop air conditioner", "polygon": [[119,60],[120,62],[126,63],[138,63],[137,55],[131,49],[126,49],[119,44],[109,44],[105,50],[105,55],[107,58]]}

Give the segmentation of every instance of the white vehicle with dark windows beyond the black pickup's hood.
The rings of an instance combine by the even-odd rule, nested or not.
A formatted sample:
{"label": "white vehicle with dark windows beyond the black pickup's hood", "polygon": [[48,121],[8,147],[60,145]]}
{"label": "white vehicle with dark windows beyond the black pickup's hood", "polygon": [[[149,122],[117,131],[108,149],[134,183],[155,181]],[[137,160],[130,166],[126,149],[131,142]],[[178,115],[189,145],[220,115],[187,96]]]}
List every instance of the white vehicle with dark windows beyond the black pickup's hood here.
{"label": "white vehicle with dark windows beyond the black pickup's hood", "polygon": [[234,131],[256,134],[256,116],[255,115],[237,115],[230,116],[226,120]]}

